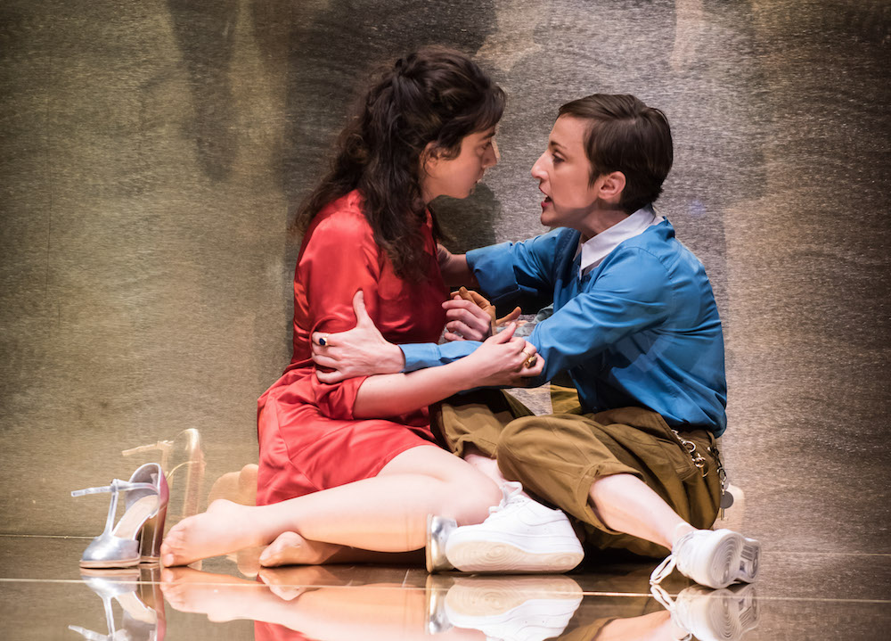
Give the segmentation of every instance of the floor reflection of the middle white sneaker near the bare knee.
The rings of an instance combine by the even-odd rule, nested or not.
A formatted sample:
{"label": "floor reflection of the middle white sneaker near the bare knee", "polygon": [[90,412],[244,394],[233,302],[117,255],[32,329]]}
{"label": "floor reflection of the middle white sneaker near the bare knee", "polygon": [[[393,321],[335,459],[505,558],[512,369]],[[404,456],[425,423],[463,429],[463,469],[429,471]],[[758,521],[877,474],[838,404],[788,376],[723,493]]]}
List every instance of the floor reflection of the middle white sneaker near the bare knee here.
{"label": "floor reflection of the middle white sneaker near the bare knee", "polygon": [[582,596],[569,577],[462,577],[443,609],[455,628],[477,629],[488,639],[544,641],[563,633]]}

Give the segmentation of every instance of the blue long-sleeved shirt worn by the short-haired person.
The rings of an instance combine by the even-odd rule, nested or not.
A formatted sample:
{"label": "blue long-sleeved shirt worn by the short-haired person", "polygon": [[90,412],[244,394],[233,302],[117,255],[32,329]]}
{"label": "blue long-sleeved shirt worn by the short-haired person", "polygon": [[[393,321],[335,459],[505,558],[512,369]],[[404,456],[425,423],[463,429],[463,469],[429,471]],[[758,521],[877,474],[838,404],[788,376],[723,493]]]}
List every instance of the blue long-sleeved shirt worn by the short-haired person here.
{"label": "blue long-sleeved shirt worn by the short-haired person", "polygon": [[[667,220],[620,242],[579,276],[580,234],[559,228],[467,254],[493,302],[554,313],[527,341],[542,380],[568,372],[585,411],[649,407],[676,429],[719,436],[727,418],[721,320],[705,269]],[[405,371],[445,365],[476,341],[401,345]]]}

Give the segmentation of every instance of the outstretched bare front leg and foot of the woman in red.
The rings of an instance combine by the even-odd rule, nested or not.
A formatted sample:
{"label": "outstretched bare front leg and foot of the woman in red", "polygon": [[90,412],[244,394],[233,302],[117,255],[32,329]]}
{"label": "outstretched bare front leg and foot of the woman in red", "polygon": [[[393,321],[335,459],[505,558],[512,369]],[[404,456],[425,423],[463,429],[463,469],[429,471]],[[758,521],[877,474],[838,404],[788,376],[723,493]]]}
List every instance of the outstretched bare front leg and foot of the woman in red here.
{"label": "outstretched bare front leg and foot of the woman in red", "polygon": [[[165,565],[184,565],[249,546],[268,545],[282,532],[380,552],[424,546],[427,515],[460,524],[482,522],[500,492],[460,458],[435,446],[396,456],[372,479],[273,505],[216,501],[170,530],[161,547]],[[357,526],[358,524],[358,526]]]}

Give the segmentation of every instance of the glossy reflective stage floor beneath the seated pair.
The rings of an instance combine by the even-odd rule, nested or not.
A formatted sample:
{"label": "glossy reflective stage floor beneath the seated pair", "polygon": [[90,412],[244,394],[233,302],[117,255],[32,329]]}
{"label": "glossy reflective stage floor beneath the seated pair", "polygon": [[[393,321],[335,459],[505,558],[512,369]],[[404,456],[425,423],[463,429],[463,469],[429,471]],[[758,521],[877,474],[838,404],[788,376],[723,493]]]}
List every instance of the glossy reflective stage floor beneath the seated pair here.
{"label": "glossy reflective stage floor beneath the seated pair", "polygon": [[[81,574],[82,538],[0,538],[6,639],[885,639],[887,555],[767,553],[751,586],[707,590],[655,563],[567,575],[428,575],[409,567],[261,569],[257,550],[197,567]],[[669,610],[674,612],[674,618]],[[117,636],[113,636],[117,635]]]}

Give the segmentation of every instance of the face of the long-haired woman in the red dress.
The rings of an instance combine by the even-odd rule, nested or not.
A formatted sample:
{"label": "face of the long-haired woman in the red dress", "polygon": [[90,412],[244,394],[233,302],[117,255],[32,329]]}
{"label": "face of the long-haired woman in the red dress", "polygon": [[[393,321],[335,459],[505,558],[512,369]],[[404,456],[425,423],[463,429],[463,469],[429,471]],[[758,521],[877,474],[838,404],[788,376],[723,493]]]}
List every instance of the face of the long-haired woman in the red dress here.
{"label": "face of the long-haired woman in the red dress", "polygon": [[424,162],[421,172],[424,201],[432,201],[437,196],[467,198],[486,169],[495,167],[499,158],[495,127],[464,136],[461,152],[454,158],[433,155]]}

